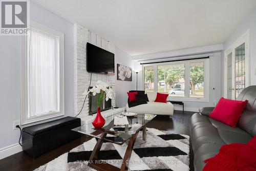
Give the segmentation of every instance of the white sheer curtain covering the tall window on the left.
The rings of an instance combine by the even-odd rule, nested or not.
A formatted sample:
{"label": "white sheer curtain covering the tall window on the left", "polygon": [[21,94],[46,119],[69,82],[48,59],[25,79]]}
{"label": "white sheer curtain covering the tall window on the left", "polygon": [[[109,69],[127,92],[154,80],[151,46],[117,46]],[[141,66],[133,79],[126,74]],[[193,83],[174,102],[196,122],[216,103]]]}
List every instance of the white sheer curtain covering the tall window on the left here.
{"label": "white sheer curtain covering the tall window on the left", "polygon": [[28,118],[60,111],[58,36],[30,28],[27,71]]}

